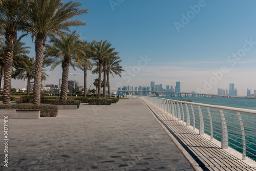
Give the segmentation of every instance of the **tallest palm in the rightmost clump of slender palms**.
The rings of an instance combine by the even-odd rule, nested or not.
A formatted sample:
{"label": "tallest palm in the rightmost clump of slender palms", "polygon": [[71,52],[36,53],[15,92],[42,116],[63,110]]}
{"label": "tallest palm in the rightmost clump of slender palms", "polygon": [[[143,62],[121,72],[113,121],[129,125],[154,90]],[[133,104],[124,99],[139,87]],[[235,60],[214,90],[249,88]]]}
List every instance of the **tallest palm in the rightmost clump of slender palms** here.
{"label": "tallest palm in the rightmost clump of slender palms", "polygon": [[[93,40],[93,46],[92,46],[92,53],[93,53],[93,60],[98,62],[99,64],[99,77],[98,82],[101,82],[101,73],[102,73],[102,65],[103,65],[103,59],[111,56],[111,53],[114,51],[115,48],[110,48],[111,44],[110,42],[107,42],[107,40],[99,41]],[[105,76],[105,75],[104,75]],[[106,84],[106,80],[104,79],[104,85]],[[97,97],[100,98],[100,84],[98,84],[98,92]],[[103,94],[105,93],[105,88],[103,87]]]}

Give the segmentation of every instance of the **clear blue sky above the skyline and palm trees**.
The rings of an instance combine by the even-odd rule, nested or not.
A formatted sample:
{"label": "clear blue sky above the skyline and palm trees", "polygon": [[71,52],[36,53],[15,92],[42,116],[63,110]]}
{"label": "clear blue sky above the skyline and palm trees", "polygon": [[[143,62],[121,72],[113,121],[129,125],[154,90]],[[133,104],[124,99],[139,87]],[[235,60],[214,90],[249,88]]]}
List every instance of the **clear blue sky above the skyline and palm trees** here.
{"label": "clear blue sky above the skyline and palm trees", "polygon": [[[122,78],[111,79],[113,90],[120,85],[148,86],[150,81],[162,83],[165,88],[181,81],[183,92],[217,94],[218,87],[229,89],[229,83],[234,83],[239,95],[246,94],[247,88],[253,94],[256,90],[255,7],[256,2],[252,0],[82,1],[82,8],[88,8],[90,13],[77,18],[87,22],[87,26],[71,29],[88,41],[107,39],[120,52],[125,72]],[[30,37],[23,41],[32,47],[33,56]],[[145,56],[151,60],[143,63],[140,60]],[[223,66],[226,69],[220,74]],[[82,72],[77,70],[77,73]],[[58,82],[61,68],[49,74],[48,82]],[[82,84],[82,75],[76,78]],[[97,75],[88,77],[88,87],[95,78]],[[20,81],[16,82],[13,81],[12,87],[24,87]]]}

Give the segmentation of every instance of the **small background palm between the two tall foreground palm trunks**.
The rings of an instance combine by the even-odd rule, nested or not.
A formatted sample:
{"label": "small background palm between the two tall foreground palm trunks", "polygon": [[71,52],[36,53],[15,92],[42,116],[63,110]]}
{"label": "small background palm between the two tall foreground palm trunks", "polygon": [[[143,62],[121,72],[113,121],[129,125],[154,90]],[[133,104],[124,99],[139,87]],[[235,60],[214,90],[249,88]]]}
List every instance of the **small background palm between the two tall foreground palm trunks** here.
{"label": "small background palm between the two tall foreground palm trunks", "polygon": [[[46,71],[46,70],[42,70]],[[22,68],[17,68],[13,74],[12,78],[14,79],[27,79],[27,96],[29,96],[30,90],[30,80],[35,76],[35,60],[34,57],[29,58],[25,61],[25,65]],[[42,80],[46,80],[48,75],[45,72],[42,72]]]}

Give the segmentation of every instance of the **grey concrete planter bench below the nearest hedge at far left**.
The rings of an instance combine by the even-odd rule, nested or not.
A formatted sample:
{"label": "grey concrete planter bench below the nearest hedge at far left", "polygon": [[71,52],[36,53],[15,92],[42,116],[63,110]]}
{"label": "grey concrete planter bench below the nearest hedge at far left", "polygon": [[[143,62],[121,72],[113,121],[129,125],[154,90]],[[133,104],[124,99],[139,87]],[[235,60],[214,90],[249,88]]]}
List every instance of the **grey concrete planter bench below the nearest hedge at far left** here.
{"label": "grey concrete planter bench below the nearest hedge at far left", "polygon": [[39,119],[40,110],[0,110],[0,119],[4,119],[4,116],[8,116],[8,119]]}

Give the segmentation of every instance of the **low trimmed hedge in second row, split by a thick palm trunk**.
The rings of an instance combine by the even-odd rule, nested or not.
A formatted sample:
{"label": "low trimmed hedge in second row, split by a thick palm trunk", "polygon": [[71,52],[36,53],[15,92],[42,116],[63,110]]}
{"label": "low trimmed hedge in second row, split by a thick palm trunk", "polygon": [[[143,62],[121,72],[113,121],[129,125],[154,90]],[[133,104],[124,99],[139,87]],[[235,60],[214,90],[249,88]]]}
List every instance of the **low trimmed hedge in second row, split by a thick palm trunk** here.
{"label": "low trimmed hedge in second row, split by a thick palm trunk", "polygon": [[[31,98],[21,98],[16,99],[16,103],[33,103]],[[76,104],[76,108],[79,109],[80,101],[79,100],[58,100],[58,99],[41,99],[40,103],[42,104]]]}

